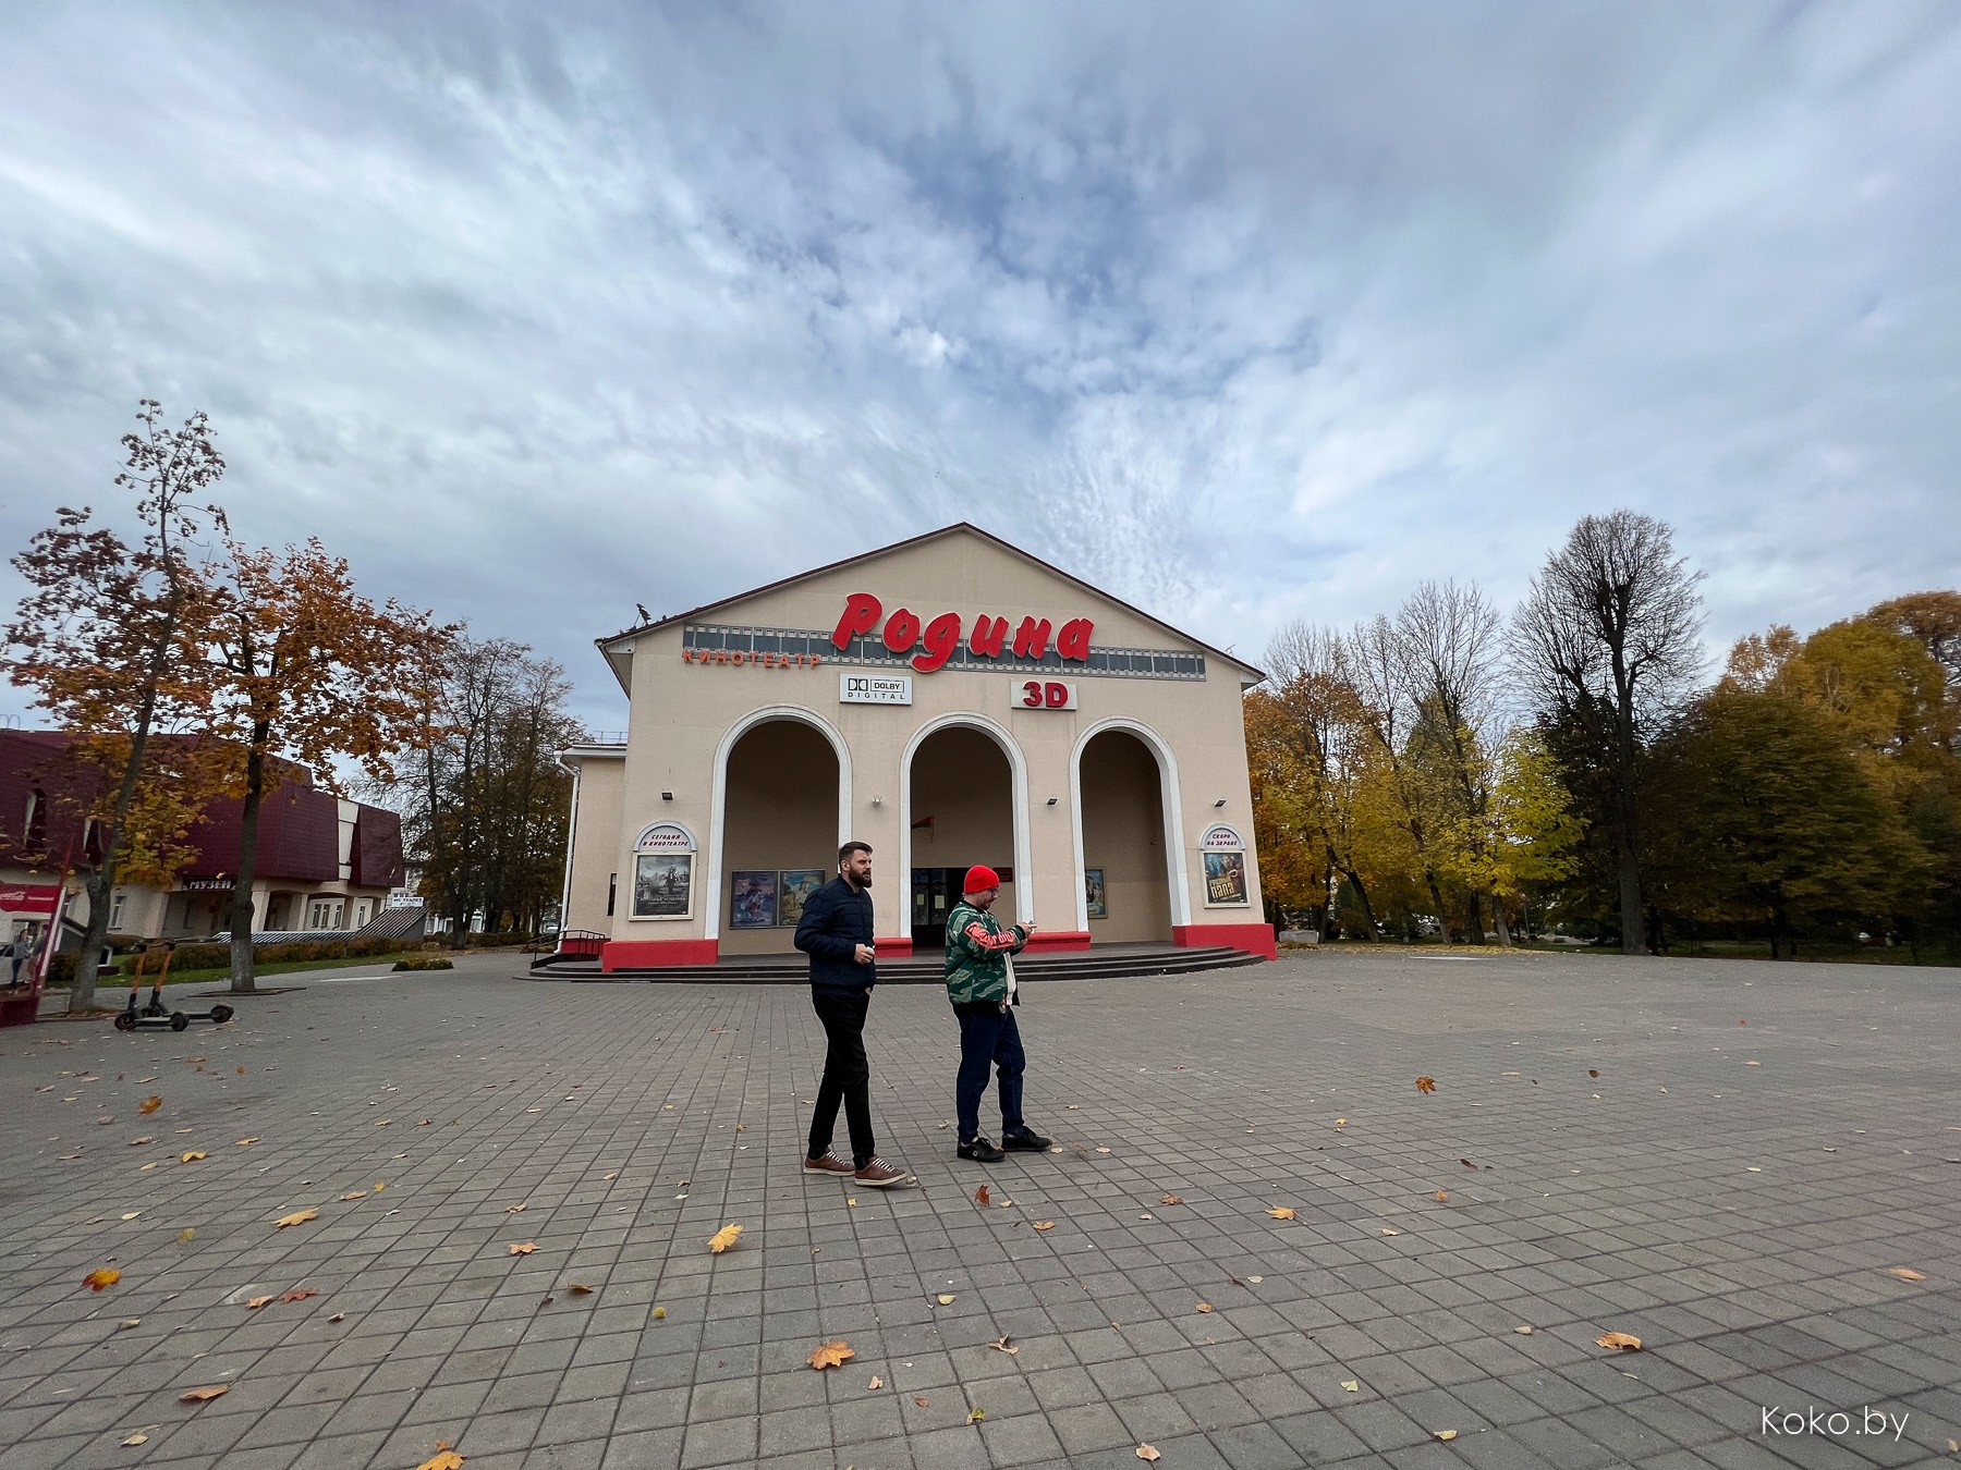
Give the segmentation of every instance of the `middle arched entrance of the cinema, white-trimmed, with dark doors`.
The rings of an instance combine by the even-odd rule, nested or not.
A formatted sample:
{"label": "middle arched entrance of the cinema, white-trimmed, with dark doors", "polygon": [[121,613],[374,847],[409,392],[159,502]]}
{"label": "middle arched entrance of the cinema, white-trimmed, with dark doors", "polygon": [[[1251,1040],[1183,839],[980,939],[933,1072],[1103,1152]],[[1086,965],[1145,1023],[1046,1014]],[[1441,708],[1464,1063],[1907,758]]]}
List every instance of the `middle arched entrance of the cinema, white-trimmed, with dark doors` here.
{"label": "middle arched entrance of the cinema, white-trimmed, with dark doors", "polygon": [[916,955],[947,941],[947,913],[967,868],[1002,876],[994,911],[1028,917],[1028,768],[1006,729],[980,715],[949,715],[914,735],[900,782],[900,876]]}

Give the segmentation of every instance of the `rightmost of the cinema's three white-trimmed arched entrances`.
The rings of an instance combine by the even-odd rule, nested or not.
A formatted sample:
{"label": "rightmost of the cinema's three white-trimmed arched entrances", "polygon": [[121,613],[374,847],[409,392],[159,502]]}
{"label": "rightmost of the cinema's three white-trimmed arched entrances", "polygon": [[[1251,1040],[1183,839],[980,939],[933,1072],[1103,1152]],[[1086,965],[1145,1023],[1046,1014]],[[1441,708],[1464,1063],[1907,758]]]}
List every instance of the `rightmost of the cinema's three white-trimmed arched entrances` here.
{"label": "rightmost of the cinema's three white-trimmed arched entrances", "polygon": [[[1161,943],[1190,923],[1177,766],[1155,731],[1106,719],[1077,741],[1079,927],[1092,945]],[[1100,909],[1100,911],[1098,911]]]}

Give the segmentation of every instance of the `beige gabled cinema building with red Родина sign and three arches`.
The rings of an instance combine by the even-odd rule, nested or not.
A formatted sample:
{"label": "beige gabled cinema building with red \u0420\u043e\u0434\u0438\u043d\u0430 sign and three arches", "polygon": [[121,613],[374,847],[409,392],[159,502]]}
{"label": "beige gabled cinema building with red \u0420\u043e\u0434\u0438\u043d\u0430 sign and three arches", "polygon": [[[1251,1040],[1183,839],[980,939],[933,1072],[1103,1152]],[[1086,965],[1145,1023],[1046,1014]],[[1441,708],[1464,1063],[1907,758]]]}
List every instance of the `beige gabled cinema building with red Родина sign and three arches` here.
{"label": "beige gabled cinema building with red \u0420\u043e\u0434\u0438\u043d\u0430 sign and three arches", "polygon": [[600,639],[624,743],[577,774],[567,931],[606,970],[788,955],[843,841],[879,955],[937,953],[961,876],[1031,949],[1273,956],[1241,696],[1261,672],[973,525]]}

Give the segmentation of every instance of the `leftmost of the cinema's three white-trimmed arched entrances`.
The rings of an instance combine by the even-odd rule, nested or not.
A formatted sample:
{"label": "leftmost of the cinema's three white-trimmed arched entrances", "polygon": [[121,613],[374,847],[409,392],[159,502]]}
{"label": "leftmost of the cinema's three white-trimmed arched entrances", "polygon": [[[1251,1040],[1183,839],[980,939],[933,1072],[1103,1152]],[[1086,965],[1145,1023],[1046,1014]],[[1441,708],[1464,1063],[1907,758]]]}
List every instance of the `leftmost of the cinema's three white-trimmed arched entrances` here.
{"label": "leftmost of the cinema's three white-trimmed arched entrances", "polygon": [[843,739],[802,710],[757,710],[718,751],[708,937],[724,955],[788,955],[802,900],[837,870],[849,813]]}

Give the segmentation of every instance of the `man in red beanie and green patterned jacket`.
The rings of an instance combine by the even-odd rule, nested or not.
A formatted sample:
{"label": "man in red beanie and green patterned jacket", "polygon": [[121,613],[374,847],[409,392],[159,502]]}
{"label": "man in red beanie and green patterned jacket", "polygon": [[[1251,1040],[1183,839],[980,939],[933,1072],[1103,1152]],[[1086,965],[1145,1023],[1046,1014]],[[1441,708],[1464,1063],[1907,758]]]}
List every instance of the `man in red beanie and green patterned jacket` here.
{"label": "man in red beanie and green patterned jacket", "polygon": [[1002,929],[988,911],[1000,898],[1000,876],[992,868],[967,870],[961,902],[947,915],[947,1000],[961,1019],[961,1072],[955,1082],[955,1117],[959,1119],[959,1158],[994,1164],[1006,1158],[980,1133],[980,1094],[986,1092],[986,1070],[992,1064],[1000,1088],[1000,1141],[1006,1149],[1041,1151],[1049,1141],[1022,1121],[1022,1072],[1028,1056],[1022,1053],[1022,1031],[1014,1023],[1014,974],[1008,956],[1028,945],[1035,931],[1031,923]]}

